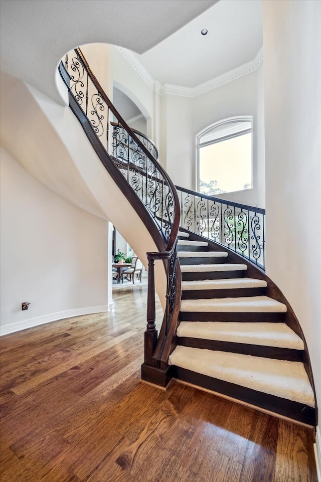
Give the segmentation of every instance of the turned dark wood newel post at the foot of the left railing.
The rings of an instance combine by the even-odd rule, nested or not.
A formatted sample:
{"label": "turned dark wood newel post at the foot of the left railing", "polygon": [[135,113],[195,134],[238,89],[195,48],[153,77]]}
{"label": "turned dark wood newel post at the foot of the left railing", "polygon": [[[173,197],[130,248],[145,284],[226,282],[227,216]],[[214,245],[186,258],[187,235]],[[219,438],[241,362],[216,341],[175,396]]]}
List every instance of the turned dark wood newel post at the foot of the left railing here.
{"label": "turned dark wood newel post at the foot of the left railing", "polygon": [[152,356],[157,343],[157,330],[155,327],[155,278],[154,259],[148,258],[148,288],[147,288],[147,328],[145,331],[145,363],[154,365]]}

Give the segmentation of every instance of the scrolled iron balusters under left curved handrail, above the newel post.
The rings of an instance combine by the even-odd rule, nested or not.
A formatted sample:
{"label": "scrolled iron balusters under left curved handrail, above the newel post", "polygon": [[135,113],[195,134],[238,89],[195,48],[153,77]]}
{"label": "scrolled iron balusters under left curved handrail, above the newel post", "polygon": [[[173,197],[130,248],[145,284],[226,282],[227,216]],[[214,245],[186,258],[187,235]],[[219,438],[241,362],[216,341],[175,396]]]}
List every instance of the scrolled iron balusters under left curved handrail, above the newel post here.
{"label": "scrolled iron balusters under left curved handrail, above the newel post", "polygon": [[155,162],[153,144],[143,134],[135,135],[102,89],[97,89],[97,79],[79,49],[66,55],[64,68],[70,77],[70,93],[97,138],[168,241],[175,217],[175,188]]}

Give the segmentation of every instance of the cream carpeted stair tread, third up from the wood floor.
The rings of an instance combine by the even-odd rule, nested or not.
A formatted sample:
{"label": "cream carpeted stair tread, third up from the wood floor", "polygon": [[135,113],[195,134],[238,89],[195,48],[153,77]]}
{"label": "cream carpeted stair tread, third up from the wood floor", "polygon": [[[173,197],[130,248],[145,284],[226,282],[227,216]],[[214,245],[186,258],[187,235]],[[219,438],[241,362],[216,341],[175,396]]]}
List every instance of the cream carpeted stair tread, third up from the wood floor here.
{"label": "cream carpeted stair tread, third up from the wood floor", "polygon": [[286,305],[268,296],[182,299],[181,311],[282,313]]}

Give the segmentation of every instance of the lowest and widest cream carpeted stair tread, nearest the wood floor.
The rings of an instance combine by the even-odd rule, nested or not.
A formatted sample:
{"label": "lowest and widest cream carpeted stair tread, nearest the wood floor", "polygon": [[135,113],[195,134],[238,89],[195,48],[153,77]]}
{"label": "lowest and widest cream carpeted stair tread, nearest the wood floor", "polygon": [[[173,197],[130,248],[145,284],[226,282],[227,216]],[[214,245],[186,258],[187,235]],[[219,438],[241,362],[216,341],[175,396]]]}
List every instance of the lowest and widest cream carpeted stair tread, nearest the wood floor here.
{"label": "lowest and widest cream carpeted stair tread, nearest the wood floor", "polygon": [[300,362],[178,346],[169,363],[314,407],[313,390]]}

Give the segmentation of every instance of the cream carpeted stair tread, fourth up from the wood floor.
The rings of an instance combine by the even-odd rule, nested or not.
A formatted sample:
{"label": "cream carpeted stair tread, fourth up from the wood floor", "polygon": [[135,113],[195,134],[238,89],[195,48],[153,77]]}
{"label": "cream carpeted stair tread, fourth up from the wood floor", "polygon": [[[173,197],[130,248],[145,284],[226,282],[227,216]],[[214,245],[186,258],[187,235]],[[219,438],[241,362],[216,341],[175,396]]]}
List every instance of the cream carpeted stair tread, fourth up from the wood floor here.
{"label": "cream carpeted stair tread, fourth up from the wood floor", "polygon": [[182,290],[194,289],[235,289],[235,288],[265,288],[264,279],[254,278],[228,278],[204,279],[202,281],[182,281]]}

